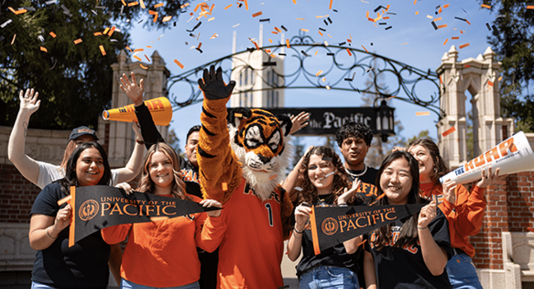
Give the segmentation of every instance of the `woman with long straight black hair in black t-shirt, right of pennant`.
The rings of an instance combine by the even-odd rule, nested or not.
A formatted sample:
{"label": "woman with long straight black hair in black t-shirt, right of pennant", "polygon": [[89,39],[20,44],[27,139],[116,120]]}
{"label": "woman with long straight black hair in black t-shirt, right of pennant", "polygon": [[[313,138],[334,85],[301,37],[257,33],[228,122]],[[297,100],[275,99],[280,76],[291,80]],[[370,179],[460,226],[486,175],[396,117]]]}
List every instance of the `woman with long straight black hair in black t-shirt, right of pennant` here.
{"label": "woman with long straight black hair in black t-shirt, right of pennant", "polygon": [[[420,204],[419,167],[405,151],[392,152],[380,166],[378,205]],[[451,258],[447,219],[435,202],[419,213],[376,229],[364,256],[367,289],[451,288],[445,271]]]}

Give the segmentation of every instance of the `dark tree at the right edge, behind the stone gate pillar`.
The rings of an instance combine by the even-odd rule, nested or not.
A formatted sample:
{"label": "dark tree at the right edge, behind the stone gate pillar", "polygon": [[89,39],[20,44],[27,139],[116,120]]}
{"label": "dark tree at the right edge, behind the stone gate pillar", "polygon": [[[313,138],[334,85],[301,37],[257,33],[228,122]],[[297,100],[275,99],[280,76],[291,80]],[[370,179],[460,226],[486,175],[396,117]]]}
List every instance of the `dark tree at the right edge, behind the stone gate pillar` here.
{"label": "dark tree at the right edge, behind the stone gate pillar", "polygon": [[[501,113],[515,117],[517,130],[534,132],[534,10],[527,1],[479,0],[497,13],[488,37],[502,62]],[[529,89],[530,87],[530,89]]]}

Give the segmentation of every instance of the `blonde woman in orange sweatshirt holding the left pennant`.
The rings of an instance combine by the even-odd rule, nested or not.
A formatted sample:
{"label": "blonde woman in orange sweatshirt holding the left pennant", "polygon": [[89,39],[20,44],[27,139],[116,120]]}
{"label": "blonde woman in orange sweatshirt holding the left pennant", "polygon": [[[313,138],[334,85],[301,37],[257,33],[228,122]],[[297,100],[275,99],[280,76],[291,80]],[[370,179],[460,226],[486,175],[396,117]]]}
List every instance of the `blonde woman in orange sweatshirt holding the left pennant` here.
{"label": "blonde woman in orange sweatshirt holding the left pennant", "polygon": [[[131,192],[128,183],[117,187]],[[148,150],[138,191],[222,207],[213,199],[201,200],[185,192],[178,155],[158,142]],[[121,224],[102,230],[108,244],[128,237],[121,266],[121,288],[199,289],[200,261],[197,248],[213,252],[224,232],[221,210],[179,216],[146,223]]]}

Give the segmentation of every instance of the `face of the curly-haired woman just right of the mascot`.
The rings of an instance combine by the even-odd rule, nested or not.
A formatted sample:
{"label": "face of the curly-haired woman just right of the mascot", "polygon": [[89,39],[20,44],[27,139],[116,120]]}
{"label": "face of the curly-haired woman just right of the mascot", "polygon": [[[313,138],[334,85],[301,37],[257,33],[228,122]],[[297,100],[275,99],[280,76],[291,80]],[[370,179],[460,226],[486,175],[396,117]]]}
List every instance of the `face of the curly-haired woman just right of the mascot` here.
{"label": "face of the curly-haired woman just right of the mascot", "polygon": [[[318,195],[326,195],[332,192],[335,167],[332,160],[325,160],[323,156],[311,155],[308,163],[308,177],[311,184],[317,188]],[[326,178],[325,178],[326,176]]]}

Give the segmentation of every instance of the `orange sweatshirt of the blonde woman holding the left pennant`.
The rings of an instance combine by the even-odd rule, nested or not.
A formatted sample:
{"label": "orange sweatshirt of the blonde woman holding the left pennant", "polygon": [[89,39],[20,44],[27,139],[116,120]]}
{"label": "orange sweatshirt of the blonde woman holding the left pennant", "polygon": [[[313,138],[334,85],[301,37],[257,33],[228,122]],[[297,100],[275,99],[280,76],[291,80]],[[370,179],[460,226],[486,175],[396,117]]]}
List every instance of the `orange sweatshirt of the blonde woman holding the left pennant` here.
{"label": "orange sweatshirt of the blonde woman holding the left pennant", "polygon": [[[191,197],[195,202],[201,200]],[[224,210],[221,212],[217,218],[196,213],[161,221],[120,224],[104,228],[101,233],[108,244],[122,242],[128,236],[122,255],[122,278],[152,287],[182,286],[200,278],[197,247],[213,252],[221,242]]]}

